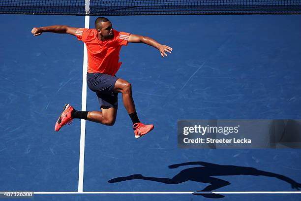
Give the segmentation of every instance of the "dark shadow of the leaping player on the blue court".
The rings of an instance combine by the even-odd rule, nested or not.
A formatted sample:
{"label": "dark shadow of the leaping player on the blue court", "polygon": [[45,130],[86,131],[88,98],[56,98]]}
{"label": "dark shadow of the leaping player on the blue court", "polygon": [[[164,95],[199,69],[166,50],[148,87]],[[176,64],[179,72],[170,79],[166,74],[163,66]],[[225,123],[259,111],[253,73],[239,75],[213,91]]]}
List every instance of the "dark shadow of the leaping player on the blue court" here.
{"label": "dark shadow of the leaping player on the blue court", "polygon": [[[301,184],[294,181],[293,179],[290,179],[281,174],[258,170],[253,167],[223,166],[223,165],[211,164],[207,162],[188,162],[182,164],[174,164],[169,166],[169,168],[177,168],[180,166],[190,166],[190,165],[200,165],[203,167],[190,167],[190,168],[183,169],[173,178],[147,177],[141,174],[133,174],[130,176],[114,178],[109,180],[108,182],[116,183],[120,181],[127,181],[133,179],[142,179],[148,181],[161,182],[165,184],[180,184],[185,181],[209,183],[210,184],[209,186],[205,187],[203,190],[194,193],[194,195],[201,195],[206,198],[223,198],[224,197],[223,195],[213,194],[209,192],[231,184],[228,181],[219,178],[214,178],[212,176],[229,176],[229,175],[269,176],[288,182],[289,184],[291,184],[293,189],[299,190],[301,188]],[[207,193],[202,193],[202,192],[207,192]]]}

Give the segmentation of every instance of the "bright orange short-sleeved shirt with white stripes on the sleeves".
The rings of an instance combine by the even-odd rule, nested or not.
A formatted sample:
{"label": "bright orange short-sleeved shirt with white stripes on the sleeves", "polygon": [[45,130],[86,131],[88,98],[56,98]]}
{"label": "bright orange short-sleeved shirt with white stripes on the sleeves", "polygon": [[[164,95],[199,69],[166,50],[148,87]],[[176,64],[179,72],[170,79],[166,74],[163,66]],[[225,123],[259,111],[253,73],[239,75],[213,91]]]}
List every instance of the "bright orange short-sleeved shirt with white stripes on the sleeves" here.
{"label": "bright orange short-sleeved shirt with white stripes on the sleeves", "polygon": [[79,28],[75,36],[86,43],[88,51],[88,72],[115,75],[121,66],[119,53],[127,45],[130,33],[113,30],[114,38],[100,41],[96,29]]}

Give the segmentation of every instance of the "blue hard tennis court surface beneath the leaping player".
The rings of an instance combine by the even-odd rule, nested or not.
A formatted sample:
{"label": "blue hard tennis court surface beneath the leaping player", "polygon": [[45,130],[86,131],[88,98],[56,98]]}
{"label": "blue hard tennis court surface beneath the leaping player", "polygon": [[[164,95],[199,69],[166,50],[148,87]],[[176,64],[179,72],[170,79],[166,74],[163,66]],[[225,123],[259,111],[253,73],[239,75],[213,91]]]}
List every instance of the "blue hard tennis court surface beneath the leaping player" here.
{"label": "blue hard tennis court surface beneath the leaping player", "polygon": [[[85,27],[84,16],[1,15],[0,191],[46,192],[35,200],[296,201],[300,149],[179,149],[181,119],[301,119],[301,15],[107,16],[114,29],[173,48],[162,58],[145,44],[121,48],[118,77],[129,81],[141,121],[135,139],[119,96],[114,126],[86,122],[83,191],[78,192],[81,121],[60,132],[63,105],[81,109],[84,43],[33,27]],[[96,16],[90,17],[93,28]],[[87,111],[99,110],[87,90]],[[198,163],[192,163],[198,162]],[[177,168],[171,165],[182,164]],[[175,166],[174,166],[175,167]],[[93,192],[138,192],[93,194]],[[206,197],[207,196],[207,197]],[[23,200],[23,199],[21,199]]]}

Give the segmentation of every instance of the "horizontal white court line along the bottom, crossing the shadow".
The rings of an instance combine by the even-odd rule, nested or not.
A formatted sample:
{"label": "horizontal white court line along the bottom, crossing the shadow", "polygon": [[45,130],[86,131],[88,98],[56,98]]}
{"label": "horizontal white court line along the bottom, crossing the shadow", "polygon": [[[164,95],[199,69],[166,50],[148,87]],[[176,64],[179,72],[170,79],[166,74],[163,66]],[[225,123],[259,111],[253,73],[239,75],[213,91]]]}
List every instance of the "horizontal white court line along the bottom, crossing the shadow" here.
{"label": "horizontal white court line along the bottom, crossing the shadow", "polygon": [[[3,192],[0,192],[3,193]],[[65,191],[65,192],[33,192],[34,194],[301,194],[301,191],[211,191],[211,192],[195,192],[195,191]]]}

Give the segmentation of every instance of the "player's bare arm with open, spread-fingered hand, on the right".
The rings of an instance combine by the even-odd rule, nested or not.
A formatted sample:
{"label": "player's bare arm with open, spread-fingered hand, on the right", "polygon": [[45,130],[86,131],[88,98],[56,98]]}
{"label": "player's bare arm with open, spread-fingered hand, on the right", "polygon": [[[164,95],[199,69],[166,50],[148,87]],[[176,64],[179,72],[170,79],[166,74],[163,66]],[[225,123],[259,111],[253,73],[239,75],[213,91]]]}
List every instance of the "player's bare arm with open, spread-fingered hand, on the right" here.
{"label": "player's bare arm with open, spread-fingered hand, on the right", "polygon": [[145,43],[145,44],[151,45],[160,51],[160,54],[162,57],[167,56],[166,52],[171,54],[171,52],[173,51],[173,48],[171,48],[167,45],[162,45],[162,44],[158,43],[157,41],[155,41],[154,39],[147,37],[147,36],[130,34],[128,37],[128,42]]}

